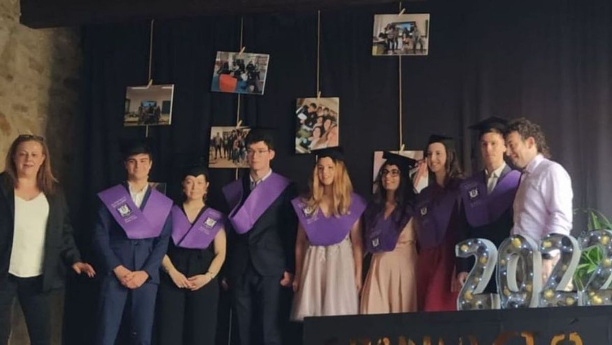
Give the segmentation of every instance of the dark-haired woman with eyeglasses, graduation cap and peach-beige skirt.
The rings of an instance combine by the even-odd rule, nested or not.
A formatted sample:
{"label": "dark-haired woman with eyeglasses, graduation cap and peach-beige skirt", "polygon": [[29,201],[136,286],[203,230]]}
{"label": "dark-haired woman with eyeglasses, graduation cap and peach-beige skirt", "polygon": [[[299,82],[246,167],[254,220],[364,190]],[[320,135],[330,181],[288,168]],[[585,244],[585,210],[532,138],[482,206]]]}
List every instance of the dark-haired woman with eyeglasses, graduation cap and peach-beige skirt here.
{"label": "dark-haired woman with eyeglasses, graduation cap and peach-beige skirt", "polygon": [[364,246],[372,254],[360,313],[417,310],[414,189],[408,176],[414,159],[385,152],[376,197],[364,212]]}

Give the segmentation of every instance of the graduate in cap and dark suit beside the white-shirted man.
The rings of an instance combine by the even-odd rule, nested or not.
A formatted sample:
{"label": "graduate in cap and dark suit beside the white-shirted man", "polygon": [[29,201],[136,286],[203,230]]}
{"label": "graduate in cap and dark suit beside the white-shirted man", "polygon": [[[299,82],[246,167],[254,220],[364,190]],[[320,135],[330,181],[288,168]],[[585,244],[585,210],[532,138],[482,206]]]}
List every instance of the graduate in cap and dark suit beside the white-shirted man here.
{"label": "graduate in cap and dark suit beside the white-shirted man", "polygon": [[[478,131],[480,154],[485,170],[475,173],[460,185],[465,230],[462,239],[483,238],[499,247],[510,236],[512,203],[517,193],[520,173],[504,161],[507,121],[490,117],[470,127]],[[463,284],[473,260],[458,259],[457,280]],[[497,293],[495,275],[486,292]]]}

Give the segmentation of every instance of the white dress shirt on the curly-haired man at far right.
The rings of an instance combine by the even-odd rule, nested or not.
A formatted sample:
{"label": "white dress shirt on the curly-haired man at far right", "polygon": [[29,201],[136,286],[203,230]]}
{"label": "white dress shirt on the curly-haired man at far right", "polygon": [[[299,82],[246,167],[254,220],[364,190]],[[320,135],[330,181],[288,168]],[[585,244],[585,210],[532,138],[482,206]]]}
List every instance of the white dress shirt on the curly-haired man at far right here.
{"label": "white dress shirt on the curly-haired man at far right", "polygon": [[521,176],[514,199],[512,234],[539,241],[550,233],[572,230],[572,179],[561,164],[538,154]]}

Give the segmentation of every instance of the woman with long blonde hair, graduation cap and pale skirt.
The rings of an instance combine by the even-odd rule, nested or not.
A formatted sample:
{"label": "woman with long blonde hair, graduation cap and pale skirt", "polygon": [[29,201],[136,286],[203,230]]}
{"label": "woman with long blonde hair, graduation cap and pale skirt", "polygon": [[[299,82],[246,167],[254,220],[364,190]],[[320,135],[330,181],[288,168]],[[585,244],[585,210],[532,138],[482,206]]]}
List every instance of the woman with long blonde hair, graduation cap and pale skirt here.
{"label": "woman with long blonde hair, graduation cap and pale skirt", "polygon": [[299,220],[291,319],[359,312],[365,201],[338,148],[318,152],[310,191],[291,203]]}

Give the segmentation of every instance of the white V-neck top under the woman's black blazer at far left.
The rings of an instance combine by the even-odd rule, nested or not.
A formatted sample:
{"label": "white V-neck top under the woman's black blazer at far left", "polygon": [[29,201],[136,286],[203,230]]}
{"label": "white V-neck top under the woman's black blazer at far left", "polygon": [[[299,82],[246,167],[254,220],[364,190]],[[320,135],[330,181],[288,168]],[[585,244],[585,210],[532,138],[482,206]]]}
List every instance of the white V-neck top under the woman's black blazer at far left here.
{"label": "white V-neck top under the woman's black blazer at far left", "polygon": [[10,252],[9,273],[21,278],[36,277],[43,271],[45,237],[49,218],[49,202],[44,193],[32,200],[15,194],[15,224],[13,249]]}

